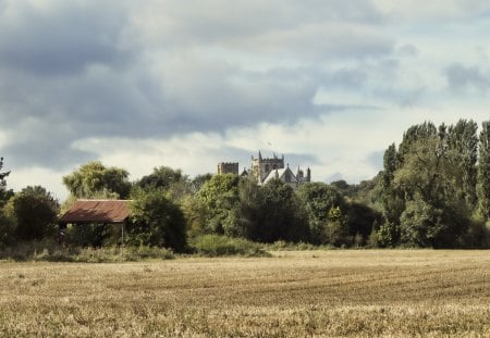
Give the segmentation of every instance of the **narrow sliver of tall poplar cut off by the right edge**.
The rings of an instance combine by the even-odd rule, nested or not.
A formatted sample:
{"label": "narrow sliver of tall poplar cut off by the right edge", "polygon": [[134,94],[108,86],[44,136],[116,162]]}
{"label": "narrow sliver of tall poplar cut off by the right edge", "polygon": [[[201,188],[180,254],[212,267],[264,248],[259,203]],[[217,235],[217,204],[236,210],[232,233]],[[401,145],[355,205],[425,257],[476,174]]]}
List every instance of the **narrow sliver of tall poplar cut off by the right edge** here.
{"label": "narrow sliver of tall poplar cut off by the right edge", "polygon": [[480,215],[490,218],[490,121],[481,125],[478,158],[478,211]]}

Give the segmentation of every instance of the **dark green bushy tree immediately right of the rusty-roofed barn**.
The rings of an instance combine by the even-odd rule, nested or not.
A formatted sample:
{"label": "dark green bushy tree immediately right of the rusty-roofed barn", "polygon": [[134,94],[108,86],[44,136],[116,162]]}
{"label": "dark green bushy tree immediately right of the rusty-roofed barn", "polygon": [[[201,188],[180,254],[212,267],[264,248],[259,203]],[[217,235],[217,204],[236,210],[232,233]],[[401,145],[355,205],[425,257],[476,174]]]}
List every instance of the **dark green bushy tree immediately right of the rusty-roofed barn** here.
{"label": "dark green bushy tree immediately right of the rusty-roofed barn", "polygon": [[135,189],[130,209],[130,245],[172,248],[175,251],[185,249],[184,214],[161,189]]}

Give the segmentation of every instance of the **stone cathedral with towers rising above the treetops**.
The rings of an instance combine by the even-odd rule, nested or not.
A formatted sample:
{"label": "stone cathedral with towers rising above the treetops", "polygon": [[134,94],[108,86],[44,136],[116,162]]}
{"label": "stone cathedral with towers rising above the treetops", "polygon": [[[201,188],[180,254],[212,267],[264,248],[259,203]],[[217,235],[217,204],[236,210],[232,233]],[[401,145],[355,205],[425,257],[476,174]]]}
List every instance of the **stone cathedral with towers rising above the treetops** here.
{"label": "stone cathedral with towers rising above the treetops", "polygon": [[[218,174],[238,175],[238,163],[218,163]],[[304,183],[311,181],[311,171],[309,167],[306,170],[306,175],[299,167],[296,174],[294,174],[289,164],[284,166],[284,155],[279,158],[273,153],[272,158],[262,158],[260,151],[258,158],[252,157],[252,168],[244,170],[241,175],[250,176],[259,186],[274,178],[280,179],[293,189],[296,189]]]}

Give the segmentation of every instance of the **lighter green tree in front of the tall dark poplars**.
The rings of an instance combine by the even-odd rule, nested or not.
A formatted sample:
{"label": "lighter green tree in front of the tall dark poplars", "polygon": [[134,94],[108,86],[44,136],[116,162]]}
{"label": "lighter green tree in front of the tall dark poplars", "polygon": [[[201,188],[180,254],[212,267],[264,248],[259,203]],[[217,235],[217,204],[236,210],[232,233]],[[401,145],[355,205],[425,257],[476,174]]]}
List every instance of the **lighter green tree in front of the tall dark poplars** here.
{"label": "lighter green tree in front of the tall dark poplars", "polygon": [[[469,215],[458,198],[439,135],[419,139],[406,151],[394,184],[404,192],[406,209],[401,215],[401,240],[420,247],[450,247],[461,243]],[[461,220],[467,220],[467,223]]]}

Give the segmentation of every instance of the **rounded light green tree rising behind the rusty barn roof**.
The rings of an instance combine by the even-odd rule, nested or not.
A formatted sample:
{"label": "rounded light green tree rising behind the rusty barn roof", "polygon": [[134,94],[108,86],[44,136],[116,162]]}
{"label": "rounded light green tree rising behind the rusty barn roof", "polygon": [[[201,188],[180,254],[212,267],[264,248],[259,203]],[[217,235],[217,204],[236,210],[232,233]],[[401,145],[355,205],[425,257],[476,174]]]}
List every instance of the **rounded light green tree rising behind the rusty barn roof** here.
{"label": "rounded light green tree rising behind the rusty barn roof", "polygon": [[102,163],[88,162],[63,177],[63,184],[76,198],[126,199],[131,191],[128,173],[115,166],[106,167]]}

